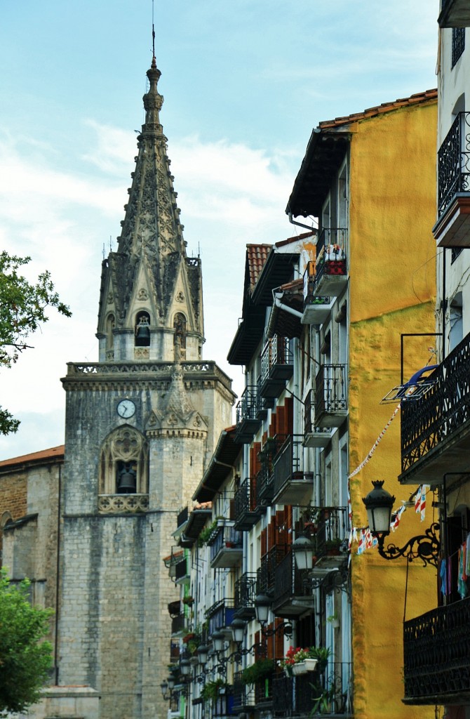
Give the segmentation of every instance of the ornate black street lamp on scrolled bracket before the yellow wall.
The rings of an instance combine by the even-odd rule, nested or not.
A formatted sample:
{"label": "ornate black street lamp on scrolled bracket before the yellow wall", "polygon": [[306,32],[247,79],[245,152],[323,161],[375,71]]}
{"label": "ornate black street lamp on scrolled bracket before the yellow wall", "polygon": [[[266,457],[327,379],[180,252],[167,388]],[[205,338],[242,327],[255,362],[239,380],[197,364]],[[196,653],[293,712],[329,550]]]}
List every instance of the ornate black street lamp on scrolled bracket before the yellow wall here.
{"label": "ornate black street lamp on scrolled bracket before the yellow wall", "polygon": [[436,536],[439,530],[437,522],[431,524],[424,534],[412,537],[405,546],[398,547],[395,544],[387,544],[384,548],[385,537],[390,534],[390,521],[392,519],[392,507],[395,502],[387,490],[383,489],[382,480],[372,482],[374,489],[363,498],[369,519],[369,528],[372,536],[377,538],[377,549],[384,559],[398,559],[406,557],[409,562],[413,559],[420,559],[423,564],[438,565],[441,543]]}

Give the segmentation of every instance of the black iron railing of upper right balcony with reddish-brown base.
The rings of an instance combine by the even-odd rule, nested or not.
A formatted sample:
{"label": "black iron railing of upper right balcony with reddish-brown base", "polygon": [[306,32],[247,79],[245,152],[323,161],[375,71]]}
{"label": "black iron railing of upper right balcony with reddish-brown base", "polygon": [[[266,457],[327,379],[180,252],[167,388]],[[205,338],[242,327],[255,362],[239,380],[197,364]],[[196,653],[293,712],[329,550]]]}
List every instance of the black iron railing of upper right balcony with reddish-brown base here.
{"label": "black iron railing of upper right balcony with reddish-brown base", "polygon": [[453,196],[469,192],[470,113],[459,112],[438,151],[438,216]]}

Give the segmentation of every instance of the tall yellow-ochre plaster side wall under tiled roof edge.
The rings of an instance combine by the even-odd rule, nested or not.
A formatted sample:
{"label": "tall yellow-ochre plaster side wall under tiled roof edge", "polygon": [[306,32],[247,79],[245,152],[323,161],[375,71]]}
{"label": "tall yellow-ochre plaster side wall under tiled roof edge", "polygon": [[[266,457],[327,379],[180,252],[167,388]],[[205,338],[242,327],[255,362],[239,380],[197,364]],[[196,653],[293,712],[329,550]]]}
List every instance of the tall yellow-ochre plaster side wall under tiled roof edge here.
{"label": "tall yellow-ochre plaster side wall under tiled roof edge", "polygon": [[[367,457],[395,404],[380,400],[400,384],[400,333],[435,331],[436,104],[369,119],[351,141],[349,259],[349,472]],[[428,364],[435,338],[405,339],[405,381]],[[400,500],[411,490],[400,473],[400,418],[388,427],[372,459],[351,480],[353,524],[367,526],[361,498],[372,480]],[[423,533],[413,510],[390,541],[397,546]],[[402,618],[406,562],[387,562],[377,551],[352,551],[354,715],[357,719],[431,717],[433,707],[402,704]],[[410,568],[406,616],[436,604],[436,569]],[[386,671],[384,671],[386,667]]]}

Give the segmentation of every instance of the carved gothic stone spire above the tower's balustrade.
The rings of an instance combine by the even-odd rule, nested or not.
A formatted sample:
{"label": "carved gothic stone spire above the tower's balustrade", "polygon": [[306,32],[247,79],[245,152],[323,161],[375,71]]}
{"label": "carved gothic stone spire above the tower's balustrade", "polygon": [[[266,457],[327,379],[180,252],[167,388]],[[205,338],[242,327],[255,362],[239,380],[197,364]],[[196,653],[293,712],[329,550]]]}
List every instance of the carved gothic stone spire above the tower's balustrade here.
{"label": "carved gothic stone spire above the tower's balustrade", "polygon": [[[137,138],[139,154],[128,191],[129,203],[124,206],[118,250],[110,252],[103,262],[98,313],[100,361],[172,361],[175,334],[181,339],[183,360],[201,358],[201,262],[186,255],[167,138],[160,124],[160,74],[153,58],[147,70],[145,122]],[[136,344],[142,317],[150,327],[148,345]]]}

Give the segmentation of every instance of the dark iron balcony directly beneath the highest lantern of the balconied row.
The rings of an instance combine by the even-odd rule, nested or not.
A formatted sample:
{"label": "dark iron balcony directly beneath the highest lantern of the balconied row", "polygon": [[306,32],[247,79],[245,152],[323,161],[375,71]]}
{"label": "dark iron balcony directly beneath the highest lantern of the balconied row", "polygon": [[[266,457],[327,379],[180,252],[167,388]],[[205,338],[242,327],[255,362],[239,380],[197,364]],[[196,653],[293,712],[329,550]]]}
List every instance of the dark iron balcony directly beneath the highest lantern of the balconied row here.
{"label": "dark iron balcony directly beneath the highest lantern of the balconied row", "polygon": [[277,617],[295,619],[308,610],[313,611],[311,594],[308,596],[305,581],[307,570],[295,565],[292,551],[288,551],[277,565],[275,573],[272,611]]}

